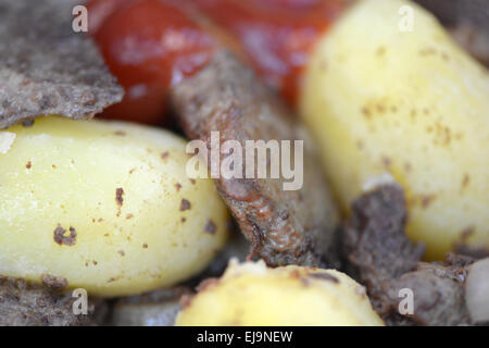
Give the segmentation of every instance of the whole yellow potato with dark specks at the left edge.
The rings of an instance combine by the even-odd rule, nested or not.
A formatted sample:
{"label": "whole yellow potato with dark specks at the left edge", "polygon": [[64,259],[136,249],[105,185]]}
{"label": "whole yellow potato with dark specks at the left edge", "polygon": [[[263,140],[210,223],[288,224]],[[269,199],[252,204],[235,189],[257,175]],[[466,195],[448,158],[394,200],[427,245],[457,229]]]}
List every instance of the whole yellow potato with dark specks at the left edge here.
{"label": "whole yellow potato with dark specks at the left edge", "polygon": [[131,295],[188,278],[224,245],[227,210],[212,181],[187,178],[186,142],[170,132],[52,116],[8,132],[1,275]]}

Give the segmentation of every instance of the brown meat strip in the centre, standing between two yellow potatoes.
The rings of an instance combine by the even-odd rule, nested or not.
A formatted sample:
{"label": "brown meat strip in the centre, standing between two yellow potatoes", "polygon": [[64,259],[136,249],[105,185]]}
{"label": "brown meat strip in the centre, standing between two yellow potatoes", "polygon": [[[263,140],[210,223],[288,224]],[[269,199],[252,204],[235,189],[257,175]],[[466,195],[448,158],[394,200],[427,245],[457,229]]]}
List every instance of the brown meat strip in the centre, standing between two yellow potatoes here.
{"label": "brown meat strip in the centre, standing between two yellow potatoes", "polygon": [[309,135],[279,98],[230,53],[218,52],[203,71],[178,84],[171,99],[186,135],[209,148],[213,130],[221,132],[221,144],[233,139],[243,148],[246,140],[304,140],[302,189],[284,190],[283,177],[215,183],[251,241],[252,256],[273,266],[319,265],[328,259],[337,210]]}

